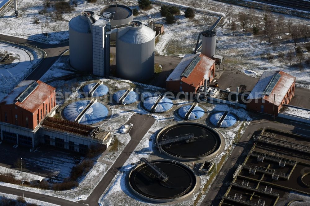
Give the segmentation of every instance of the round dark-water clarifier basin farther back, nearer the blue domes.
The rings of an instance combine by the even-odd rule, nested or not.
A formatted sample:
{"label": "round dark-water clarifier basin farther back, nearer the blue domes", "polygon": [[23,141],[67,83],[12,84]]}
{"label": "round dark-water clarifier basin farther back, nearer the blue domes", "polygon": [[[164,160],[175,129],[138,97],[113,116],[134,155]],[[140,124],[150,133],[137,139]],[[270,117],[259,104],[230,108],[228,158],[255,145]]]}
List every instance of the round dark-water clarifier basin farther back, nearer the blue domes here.
{"label": "round dark-water clarifier basin farther back, nearer the blue domes", "polygon": [[185,135],[191,135],[193,138],[163,144],[162,152],[176,159],[191,161],[210,157],[221,147],[221,138],[214,129],[194,122],[181,122],[163,128],[157,135],[157,147],[161,141],[179,139]]}

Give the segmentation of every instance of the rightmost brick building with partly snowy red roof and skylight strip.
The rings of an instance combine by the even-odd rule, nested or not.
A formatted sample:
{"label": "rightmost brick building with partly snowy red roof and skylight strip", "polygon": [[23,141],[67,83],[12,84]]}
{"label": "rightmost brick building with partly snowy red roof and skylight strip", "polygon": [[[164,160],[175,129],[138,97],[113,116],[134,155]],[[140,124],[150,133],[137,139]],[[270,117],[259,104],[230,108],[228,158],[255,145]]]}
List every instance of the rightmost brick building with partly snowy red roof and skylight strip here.
{"label": "rightmost brick building with partly snowy red roof and skylight strip", "polygon": [[296,78],[283,71],[265,71],[247,97],[247,109],[278,115],[295,95]]}

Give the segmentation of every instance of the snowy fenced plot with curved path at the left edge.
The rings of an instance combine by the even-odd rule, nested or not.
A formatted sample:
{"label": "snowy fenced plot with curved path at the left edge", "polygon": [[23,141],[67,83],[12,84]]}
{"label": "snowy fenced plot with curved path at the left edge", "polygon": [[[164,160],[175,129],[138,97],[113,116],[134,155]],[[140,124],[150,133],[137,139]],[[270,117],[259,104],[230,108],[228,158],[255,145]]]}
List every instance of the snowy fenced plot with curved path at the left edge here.
{"label": "snowy fenced plot with curved path at the left edge", "polygon": [[35,63],[42,58],[42,54],[26,47],[14,46],[11,44],[0,43],[0,53],[10,54],[15,60],[10,65],[0,64],[0,85],[1,92],[11,89],[28,75]]}

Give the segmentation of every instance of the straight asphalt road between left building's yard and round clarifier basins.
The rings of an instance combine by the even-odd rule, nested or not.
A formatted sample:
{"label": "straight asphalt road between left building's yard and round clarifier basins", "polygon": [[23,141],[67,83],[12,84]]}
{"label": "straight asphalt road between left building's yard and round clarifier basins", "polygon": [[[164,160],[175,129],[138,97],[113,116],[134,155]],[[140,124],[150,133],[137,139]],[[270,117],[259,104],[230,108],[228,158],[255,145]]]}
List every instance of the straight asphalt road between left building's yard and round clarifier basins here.
{"label": "straight asphalt road between left building's yard and round clarifier basins", "polygon": [[144,137],[149,128],[153,125],[155,119],[148,115],[135,114],[131,116],[130,120],[126,124],[132,123],[133,126],[129,132],[131,136],[131,140],[126,145],[122,153],[117,157],[114,164],[108,170],[108,172],[104,175],[102,180],[95,187],[91,195],[88,196],[87,200],[80,201],[79,203],[88,204],[88,205],[98,205],[98,200],[101,195],[105,191],[105,189],[109,186],[110,182],[117,174],[117,172],[122,168],[122,166],[127,161],[128,157],[135,150],[141,139]]}

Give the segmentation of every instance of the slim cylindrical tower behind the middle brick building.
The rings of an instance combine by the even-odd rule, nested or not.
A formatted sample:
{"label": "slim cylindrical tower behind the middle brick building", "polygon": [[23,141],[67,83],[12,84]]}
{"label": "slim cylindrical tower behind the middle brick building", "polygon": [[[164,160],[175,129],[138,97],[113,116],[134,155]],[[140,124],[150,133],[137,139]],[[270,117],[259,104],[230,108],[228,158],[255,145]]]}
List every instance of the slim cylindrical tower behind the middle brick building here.
{"label": "slim cylindrical tower behind the middle brick building", "polygon": [[208,30],[202,33],[202,45],[201,45],[201,54],[206,55],[209,58],[212,58],[215,54],[215,45],[216,45],[216,32],[213,30]]}

